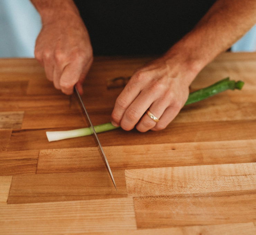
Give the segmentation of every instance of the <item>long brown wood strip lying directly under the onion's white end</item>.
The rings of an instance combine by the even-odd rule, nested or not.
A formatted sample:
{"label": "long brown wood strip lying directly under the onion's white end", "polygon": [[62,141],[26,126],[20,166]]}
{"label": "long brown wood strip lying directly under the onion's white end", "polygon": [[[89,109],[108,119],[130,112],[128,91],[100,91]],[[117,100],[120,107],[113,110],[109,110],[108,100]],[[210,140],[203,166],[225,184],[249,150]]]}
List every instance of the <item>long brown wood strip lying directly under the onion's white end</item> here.
{"label": "long brown wood strip lying directly under the onion's white end", "polygon": [[[9,151],[55,149],[55,148],[79,148],[93,147],[94,141],[90,137],[79,137],[70,140],[62,140],[49,143],[46,138],[46,131],[72,130],[81,128],[54,128],[54,129],[31,129],[15,130],[9,144]],[[228,141],[228,140],[251,140],[256,139],[256,132],[244,131],[256,129],[255,120],[240,121],[219,121],[219,122],[190,122],[171,123],[166,129],[160,132],[140,133],[137,130],[124,131],[116,129],[111,132],[99,134],[103,146],[139,145],[139,144],[161,144],[161,143],[186,143],[205,141]]]}

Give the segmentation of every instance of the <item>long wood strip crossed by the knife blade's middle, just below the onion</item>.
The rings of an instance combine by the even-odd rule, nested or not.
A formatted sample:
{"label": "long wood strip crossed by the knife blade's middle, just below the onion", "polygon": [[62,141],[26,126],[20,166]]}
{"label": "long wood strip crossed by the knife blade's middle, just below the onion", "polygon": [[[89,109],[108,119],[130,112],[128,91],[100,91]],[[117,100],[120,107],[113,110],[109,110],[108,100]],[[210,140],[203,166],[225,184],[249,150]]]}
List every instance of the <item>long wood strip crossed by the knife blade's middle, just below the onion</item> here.
{"label": "long wood strip crossed by the knife blade's middle, just below the onion", "polygon": [[[256,161],[256,140],[107,146],[104,151],[112,169],[244,163]],[[37,173],[101,167],[104,166],[95,147],[44,149],[39,153]]]}

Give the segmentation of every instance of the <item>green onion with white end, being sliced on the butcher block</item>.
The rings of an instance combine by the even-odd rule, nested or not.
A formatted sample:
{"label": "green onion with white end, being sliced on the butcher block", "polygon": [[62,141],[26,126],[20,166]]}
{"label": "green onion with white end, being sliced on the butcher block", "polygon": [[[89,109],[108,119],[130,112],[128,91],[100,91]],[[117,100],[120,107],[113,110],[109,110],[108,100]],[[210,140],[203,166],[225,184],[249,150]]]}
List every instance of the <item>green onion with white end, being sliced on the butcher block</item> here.
{"label": "green onion with white end, being sliced on the butcher block", "polygon": [[[205,98],[216,95],[220,92],[230,90],[241,90],[244,85],[243,81],[235,82],[234,80],[229,80],[229,77],[220,80],[217,83],[214,83],[211,86],[202,88],[198,91],[192,92],[189,94],[188,100],[185,105],[192,104],[198,102],[200,100],[204,100]],[[110,131],[117,129],[119,127],[113,126],[111,122],[95,125],[94,129],[97,133]],[[46,131],[46,136],[48,141],[56,141],[56,140],[64,140],[69,138],[81,137],[85,135],[91,135],[93,133],[91,127],[75,129],[70,131]]]}

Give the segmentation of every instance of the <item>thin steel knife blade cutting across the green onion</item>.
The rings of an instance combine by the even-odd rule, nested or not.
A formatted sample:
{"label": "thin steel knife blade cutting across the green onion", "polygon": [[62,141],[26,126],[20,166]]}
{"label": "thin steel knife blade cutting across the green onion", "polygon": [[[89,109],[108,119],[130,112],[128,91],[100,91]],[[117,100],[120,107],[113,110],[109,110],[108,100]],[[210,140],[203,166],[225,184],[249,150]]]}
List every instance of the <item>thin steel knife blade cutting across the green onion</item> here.
{"label": "thin steel knife blade cutting across the green onion", "polygon": [[96,133],[96,131],[95,131],[93,125],[92,125],[92,121],[91,121],[91,119],[90,119],[90,116],[89,116],[89,114],[88,114],[88,112],[87,112],[87,110],[86,110],[86,108],[85,108],[85,106],[84,106],[83,100],[82,100],[82,98],[81,98],[81,96],[80,96],[80,94],[79,94],[79,92],[78,92],[76,86],[74,86],[74,91],[75,91],[75,93],[76,93],[76,95],[77,95],[77,97],[78,97],[78,99],[79,99],[79,101],[80,101],[79,103],[80,103],[80,105],[81,105],[81,107],[82,107],[82,110],[83,110],[84,113],[85,113],[86,122],[87,122],[87,124],[91,127],[91,129],[92,129],[92,131],[93,131],[94,141],[95,141],[95,143],[97,144],[97,147],[98,147],[98,149],[99,149],[101,158],[102,158],[102,160],[103,160],[103,162],[104,162],[104,164],[105,164],[105,166],[106,166],[106,168],[107,168],[107,170],[108,170],[108,173],[109,173],[109,176],[110,176],[110,178],[111,178],[111,180],[112,180],[112,182],[113,182],[113,185],[115,186],[115,188],[116,188],[116,190],[117,190],[116,182],[115,182],[115,180],[114,180],[112,171],[111,171],[111,169],[110,169],[110,166],[109,166],[109,163],[108,163],[108,159],[107,159],[107,157],[106,157],[106,154],[104,153],[104,150],[103,150],[103,148],[102,148],[102,145],[101,145],[101,143],[100,143],[100,140],[99,140],[99,138],[98,138],[98,135],[97,135],[97,133]]}

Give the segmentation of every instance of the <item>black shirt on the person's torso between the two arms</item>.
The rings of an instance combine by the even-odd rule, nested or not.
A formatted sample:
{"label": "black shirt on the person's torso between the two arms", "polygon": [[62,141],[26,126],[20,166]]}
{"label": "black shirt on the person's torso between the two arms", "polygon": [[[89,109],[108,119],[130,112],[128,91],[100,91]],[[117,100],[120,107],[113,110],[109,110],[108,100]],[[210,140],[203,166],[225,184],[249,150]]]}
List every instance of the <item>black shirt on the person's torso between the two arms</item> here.
{"label": "black shirt on the person's torso between the two arms", "polygon": [[75,0],[94,55],[158,55],[189,32],[216,0]]}

